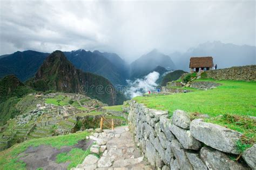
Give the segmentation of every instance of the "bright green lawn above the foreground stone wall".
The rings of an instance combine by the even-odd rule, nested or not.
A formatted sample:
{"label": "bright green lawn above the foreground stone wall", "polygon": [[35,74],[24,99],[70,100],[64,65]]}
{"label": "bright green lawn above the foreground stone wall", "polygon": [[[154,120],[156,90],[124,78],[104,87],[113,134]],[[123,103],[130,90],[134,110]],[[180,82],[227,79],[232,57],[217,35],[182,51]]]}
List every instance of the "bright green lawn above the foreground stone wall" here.
{"label": "bright green lawn above the foreground stone wall", "polygon": [[[203,80],[206,81],[206,80]],[[216,89],[207,91],[194,91],[190,93],[177,93],[167,96],[136,97],[134,100],[145,104],[149,108],[169,111],[170,116],[174,110],[184,110],[188,113],[208,114],[211,119],[206,121],[223,125],[244,133],[247,137],[256,140],[256,124],[247,115],[256,116],[256,82],[234,80],[207,80],[220,83]],[[233,115],[237,121],[217,117],[220,114]],[[252,124],[252,126],[247,126]]]}

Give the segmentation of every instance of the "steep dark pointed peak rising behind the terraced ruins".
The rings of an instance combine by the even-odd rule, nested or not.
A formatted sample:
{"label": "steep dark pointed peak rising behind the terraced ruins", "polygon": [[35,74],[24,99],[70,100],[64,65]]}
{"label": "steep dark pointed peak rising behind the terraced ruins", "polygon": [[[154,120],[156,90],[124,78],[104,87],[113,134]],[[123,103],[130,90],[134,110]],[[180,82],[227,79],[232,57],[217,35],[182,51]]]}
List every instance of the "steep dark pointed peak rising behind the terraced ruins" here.
{"label": "steep dark pointed peak rising behind the terraced ruins", "polygon": [[109,105],[117,104],[117,100],[122,96],[117,97],[115,90],[109,94],[99,94],[97,89],[87,91],[90,87],[99,85],[110,86],[114,89],[110,81],[104,77],[76,69],[64,53],[57,50],[45,59],[35,75],[32,86],[38,91],[55,90],[68,93],[85,93],[87,96],[96,97]]}

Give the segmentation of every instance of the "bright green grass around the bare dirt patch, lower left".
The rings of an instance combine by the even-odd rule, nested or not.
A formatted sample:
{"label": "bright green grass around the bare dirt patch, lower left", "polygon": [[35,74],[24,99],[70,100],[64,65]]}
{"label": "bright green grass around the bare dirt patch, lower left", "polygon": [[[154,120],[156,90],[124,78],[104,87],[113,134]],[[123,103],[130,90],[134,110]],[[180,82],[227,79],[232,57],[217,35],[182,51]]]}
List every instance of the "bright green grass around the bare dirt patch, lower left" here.
{"label": "bright green grass around the bare dirt patch, lower left", "polygon": [[[89,135],[87,132],[82,133],[72,133],[68,135],[60,135],[57,137],[48,137],[40,139],[32,139],[24,141],[21,144],[12,146],[5,151],[0,152],[0,169],[26,169],[25,163],[19,161],[18,154],[24,152],[29,146],[40,146],[40,145],[50,145],[52,147],[60,148],[62,146],[73,146],[77,144],[79,140],[85,139]],[[75,152],[76,151],[76,152]],[[69,153],[64,153],[66,155],[65,161],[71,161],[70,166],[75,167],[79,162],[77,158],[87,154],[86,151],[82,149],[72,149]],[[60,156],[58,156],[58,162],[65,162]]]}

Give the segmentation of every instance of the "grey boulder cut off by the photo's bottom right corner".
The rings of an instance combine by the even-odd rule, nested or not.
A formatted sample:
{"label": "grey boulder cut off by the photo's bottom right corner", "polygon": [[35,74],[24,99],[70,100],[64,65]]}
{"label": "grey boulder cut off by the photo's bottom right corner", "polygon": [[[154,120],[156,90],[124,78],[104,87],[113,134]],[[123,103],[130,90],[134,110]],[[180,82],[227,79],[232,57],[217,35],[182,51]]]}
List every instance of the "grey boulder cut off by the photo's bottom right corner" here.
{"label": "grey boulder cut off by the photo's bottom right corner", "polygon": [[252,147],[246,149],[244,153],[242,153],[242,158],[246,161],[246,163],[252,168],[256,169],[256,144]]}

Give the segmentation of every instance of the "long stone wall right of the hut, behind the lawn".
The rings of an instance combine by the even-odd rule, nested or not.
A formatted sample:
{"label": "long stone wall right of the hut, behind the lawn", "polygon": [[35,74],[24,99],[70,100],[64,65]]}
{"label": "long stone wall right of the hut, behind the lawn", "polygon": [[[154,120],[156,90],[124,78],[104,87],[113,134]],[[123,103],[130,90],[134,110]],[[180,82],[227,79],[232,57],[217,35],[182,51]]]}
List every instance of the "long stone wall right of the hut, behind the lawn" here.
{"label": "long stone wall right of the hut, behind the lawn", "polygon": [[227,69],[218,69],[206,71],[207,78],[217,80],[246,80],[256,81],[256,65],[247,65],[240,67],[230,67]]}

